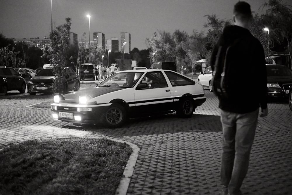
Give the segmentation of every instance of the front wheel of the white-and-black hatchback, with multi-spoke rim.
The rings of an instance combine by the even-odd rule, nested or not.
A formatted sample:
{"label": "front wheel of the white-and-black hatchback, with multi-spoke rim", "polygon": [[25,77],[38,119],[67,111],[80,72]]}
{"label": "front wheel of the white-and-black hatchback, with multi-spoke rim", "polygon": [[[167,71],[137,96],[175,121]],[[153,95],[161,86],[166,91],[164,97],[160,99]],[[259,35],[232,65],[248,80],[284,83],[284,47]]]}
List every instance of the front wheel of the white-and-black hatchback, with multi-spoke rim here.
{"label": "front wheel of the white-and-black hatchback, with multi-spoke rim", "polygon": [[126,109],[120,104],[114,103],[105,111],[103,124],[110,128],[117,128],[127,120]]}

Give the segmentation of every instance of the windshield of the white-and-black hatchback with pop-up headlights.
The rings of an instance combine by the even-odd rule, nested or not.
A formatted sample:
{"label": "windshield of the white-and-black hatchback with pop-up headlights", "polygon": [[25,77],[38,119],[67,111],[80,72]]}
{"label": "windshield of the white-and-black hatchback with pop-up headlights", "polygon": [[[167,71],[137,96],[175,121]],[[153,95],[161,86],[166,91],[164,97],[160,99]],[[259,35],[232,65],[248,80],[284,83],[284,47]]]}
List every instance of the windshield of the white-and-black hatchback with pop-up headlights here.
{"label": "windshield of the white-and-black hatchback with pop-up headlights", "polygon": [[133,87],[142,75],[140,72],[115,73],[97,87]]}

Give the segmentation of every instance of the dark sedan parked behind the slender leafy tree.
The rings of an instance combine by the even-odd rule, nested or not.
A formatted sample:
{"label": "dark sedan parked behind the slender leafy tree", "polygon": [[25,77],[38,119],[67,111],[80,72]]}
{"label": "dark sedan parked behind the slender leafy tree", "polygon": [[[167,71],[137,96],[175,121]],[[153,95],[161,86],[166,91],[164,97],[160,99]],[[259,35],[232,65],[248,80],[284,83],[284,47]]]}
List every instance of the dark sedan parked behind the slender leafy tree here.
{"label": "dark sedan parked behind the slender leafy tree", "polygon": [[[64,83],[65,91],[77,91],[80,88],[79,76],[69,67],[65,68],[66,83]],[[28,81],[27,92],[31,95],[36,93],[52,94],[53,81],[55,75],[52,68],[44,68],[39,71],[32,79]]]}

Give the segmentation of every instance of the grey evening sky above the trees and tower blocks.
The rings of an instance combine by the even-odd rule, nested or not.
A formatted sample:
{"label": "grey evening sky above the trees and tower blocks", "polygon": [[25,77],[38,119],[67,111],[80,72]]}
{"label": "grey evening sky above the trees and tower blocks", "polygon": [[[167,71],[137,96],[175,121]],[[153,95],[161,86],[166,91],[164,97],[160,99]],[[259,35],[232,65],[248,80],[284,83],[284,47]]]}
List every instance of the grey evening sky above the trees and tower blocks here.
{"label": "grey evening sky above the trees and tower blocks", "polygon": [[[53,28],[72,18],[71,31],[78,40],[86,32],[88,18],[90,36],[103,32],[106,39],[120,39],[120,32],[131,34],[131,49],[146,49],[146,38],[157,30],[173,33],[175,29],[192,33],[204,30],[206,14],[216,14],[220,19],[231,19],[238,0],[52,0]],[[246,0],[252,11],[265,0]],[[284,2],[291,1],[284,0]],[[51,29],[50,0],[0,0],[0,32],[6,38],[33,38],[48,36]]]}

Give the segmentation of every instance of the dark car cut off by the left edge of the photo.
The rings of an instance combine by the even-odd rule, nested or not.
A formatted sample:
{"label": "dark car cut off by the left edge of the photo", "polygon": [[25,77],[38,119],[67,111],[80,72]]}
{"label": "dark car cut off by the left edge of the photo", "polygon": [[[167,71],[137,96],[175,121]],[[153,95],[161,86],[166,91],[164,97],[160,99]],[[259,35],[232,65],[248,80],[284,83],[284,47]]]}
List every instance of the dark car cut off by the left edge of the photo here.
{"label": "dark car cut off by the left edge of the photo", "polygon": [[24,93],[25,89],[25,79],[18,72],[11,67],[0,66],[0,94],[7,95],[7,92],[12,90]]}

